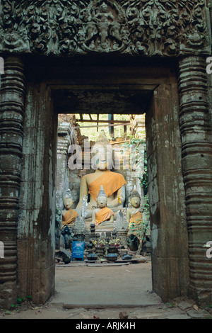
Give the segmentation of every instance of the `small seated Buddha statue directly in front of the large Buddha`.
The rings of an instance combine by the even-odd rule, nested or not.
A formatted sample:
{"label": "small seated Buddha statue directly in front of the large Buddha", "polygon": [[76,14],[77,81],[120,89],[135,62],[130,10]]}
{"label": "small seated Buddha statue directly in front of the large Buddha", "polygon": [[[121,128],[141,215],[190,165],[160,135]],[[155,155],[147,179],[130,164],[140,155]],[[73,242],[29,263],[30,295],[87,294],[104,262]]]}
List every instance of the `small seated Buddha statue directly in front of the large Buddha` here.
{"label": "small seated Buddha statue directly in front of the large Buddha", "polygon": [[114,212],[107,208],[107,196],[105,194],[103,186],[100,187],[100,192],[96,199],[98,208],[93,210],[92,222],[95,225],[100,225],[102,222],[114,222]]}

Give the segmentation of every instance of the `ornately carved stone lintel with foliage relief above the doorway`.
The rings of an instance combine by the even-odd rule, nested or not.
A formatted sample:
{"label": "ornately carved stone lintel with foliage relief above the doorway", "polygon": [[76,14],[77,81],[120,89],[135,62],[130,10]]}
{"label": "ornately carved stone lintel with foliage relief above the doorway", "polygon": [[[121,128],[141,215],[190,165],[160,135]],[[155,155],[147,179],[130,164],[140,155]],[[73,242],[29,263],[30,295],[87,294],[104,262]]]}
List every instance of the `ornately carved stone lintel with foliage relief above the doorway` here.
{"label": "ornately carved stone lintel with foliage relief above the doorway", "polygon": [[210,52],[204,0],[1,1],[2,52]]}

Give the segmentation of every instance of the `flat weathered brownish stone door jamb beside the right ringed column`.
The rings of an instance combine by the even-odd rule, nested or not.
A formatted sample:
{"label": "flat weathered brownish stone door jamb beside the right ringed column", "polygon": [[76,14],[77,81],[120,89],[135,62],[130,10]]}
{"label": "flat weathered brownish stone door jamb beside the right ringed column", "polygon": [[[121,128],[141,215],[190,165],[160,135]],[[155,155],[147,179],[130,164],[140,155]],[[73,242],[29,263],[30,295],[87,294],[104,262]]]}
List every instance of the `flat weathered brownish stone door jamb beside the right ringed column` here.
{"label": "flat weathered brownish stone door jamb beside the right ringed column", "polygon": [[153,290],[167,302],[187,295],[189,253],[177,82],[155,89],[146,113]]}

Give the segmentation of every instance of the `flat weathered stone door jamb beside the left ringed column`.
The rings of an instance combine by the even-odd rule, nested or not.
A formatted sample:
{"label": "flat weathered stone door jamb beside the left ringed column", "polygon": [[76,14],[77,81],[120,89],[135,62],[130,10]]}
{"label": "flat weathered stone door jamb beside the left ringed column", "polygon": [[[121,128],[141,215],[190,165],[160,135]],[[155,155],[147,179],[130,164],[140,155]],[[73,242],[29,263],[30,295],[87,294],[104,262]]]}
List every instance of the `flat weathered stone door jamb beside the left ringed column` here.
{"label": "flat weathered stone door jamb beside the left ringed column", "polygon": [[51,91],[28,78],[18,220],[18,295],[54,293],[57,115]]}

